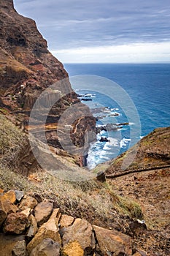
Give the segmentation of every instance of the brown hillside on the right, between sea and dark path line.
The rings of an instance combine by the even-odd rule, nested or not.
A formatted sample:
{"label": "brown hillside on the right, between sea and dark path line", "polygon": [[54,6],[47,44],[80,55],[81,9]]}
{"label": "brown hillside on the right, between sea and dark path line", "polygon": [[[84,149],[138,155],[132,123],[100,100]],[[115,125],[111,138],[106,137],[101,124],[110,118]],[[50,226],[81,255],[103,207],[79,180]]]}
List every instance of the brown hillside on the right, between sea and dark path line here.
{"label": "brown hillside on the right, between sea and dark path line", "polygon": [[[130,163],[130,165],[129,165]],[[170,127],[158,128],[109,162],[107,178],[170,167]]]}

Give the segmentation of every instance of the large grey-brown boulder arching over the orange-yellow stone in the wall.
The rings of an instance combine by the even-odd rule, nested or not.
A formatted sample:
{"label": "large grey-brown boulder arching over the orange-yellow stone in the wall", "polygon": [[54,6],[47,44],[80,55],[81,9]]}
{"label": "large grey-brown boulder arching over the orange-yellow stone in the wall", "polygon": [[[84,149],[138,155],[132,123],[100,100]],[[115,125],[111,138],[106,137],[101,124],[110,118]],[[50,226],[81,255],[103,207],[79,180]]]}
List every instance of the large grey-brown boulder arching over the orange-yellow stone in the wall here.
{"label": "large grey-brown boulder arching over the orange-yellow stone in the wall", "polygon": [[63,246],[71,241],[78,241],[85,253],[93,252],[95,248],[95,238],[93,228],[85,219],[75,219],[72,226],[63,227],[61,229],[63,234]]}

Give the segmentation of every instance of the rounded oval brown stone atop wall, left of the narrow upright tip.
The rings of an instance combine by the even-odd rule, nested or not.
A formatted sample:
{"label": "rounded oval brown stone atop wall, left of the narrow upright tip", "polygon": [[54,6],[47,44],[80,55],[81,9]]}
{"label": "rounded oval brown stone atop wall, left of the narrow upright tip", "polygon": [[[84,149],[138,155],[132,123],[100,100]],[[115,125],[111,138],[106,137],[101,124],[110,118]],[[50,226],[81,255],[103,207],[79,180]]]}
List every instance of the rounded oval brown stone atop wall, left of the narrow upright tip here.
{"label": "rounded oval brown stone atop wall, left of the narrow upright tip", "polygon": [[50,214],[53,211],[53,203],[50,203],[49,200],[43,200],[42,203],[39,203],[35,211],[35,218],[38,226],[42,225],[43,223],[47,222],[49,219]]}

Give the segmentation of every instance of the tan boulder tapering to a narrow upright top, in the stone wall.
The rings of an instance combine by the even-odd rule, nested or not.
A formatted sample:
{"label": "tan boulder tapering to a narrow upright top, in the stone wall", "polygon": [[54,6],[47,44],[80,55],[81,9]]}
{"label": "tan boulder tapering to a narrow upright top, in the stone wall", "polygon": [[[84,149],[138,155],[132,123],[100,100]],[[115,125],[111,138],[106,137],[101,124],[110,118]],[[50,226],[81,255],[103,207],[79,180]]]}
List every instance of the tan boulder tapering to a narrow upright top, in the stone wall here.
{"label": "tan boulder tapering to a narrow upright top, in the stone wall", "polygon": [[59,209],[54,209],[53,214],[50,219],[45,222],[41,227],[39,227],[38,232],[34,238],[29,242],[27,249],[28,253],[31,253],[33,249],[42,243],[45,238],[51,238],[53,241],[61,244],[61,237],[58,233],[58,220],[61,214]]}

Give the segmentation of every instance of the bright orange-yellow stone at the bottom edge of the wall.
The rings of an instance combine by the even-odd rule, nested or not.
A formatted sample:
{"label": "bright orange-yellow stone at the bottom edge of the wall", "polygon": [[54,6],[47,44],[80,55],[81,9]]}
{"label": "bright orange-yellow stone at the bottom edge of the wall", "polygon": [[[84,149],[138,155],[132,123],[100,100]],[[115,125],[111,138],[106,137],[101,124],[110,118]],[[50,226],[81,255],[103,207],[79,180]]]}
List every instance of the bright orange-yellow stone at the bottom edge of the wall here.
{"label": "bright orange-yellow stone at the bottom edge of the wall", "polygon": [[80,246],[79,242],[71,241],[61,250],[61,256],[83,256],[84,250]]}

